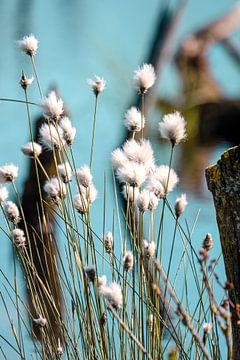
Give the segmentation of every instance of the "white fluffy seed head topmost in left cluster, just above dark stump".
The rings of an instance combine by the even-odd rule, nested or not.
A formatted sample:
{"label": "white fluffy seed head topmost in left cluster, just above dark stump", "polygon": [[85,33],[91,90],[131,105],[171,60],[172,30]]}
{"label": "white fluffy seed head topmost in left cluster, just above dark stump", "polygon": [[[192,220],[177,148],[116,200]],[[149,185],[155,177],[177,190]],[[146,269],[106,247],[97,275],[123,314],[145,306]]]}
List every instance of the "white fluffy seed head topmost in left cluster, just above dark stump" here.
{"label": "white fluffy seed head topmost in left cluster, just above dark stump", "polygon": [[54,120],[58,120],[64,111],[63,101],[54,90],[43,99],[43,108],[45,114]]}

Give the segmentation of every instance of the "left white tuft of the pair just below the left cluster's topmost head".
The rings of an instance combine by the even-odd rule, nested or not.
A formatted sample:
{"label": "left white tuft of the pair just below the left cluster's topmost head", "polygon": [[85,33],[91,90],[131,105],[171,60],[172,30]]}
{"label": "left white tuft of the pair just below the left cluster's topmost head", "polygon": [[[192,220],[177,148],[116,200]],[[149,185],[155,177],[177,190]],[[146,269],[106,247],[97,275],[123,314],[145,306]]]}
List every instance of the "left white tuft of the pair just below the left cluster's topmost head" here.
{"label": "left white tuft of the pair just below the left cluster's topmost head", "polygon": [[60,150],[65,143],[63,131],[58,125],[43,124],[39,134],[40,142],[47,150]]}

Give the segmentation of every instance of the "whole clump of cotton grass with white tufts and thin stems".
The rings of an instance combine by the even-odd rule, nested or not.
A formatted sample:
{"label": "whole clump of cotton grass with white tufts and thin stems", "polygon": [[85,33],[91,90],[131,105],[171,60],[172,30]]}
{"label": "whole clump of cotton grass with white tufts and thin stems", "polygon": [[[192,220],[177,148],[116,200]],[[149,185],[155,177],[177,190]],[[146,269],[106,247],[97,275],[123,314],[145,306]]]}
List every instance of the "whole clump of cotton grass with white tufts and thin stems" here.
{"label": "whole clump of cotton grass with white tufts and thin stems", "polygon": [[[35,81],[27,80],[24,75],[20,84],[30,139],[22,146],[22,152],[34,162],[35,186],[40,199],[36,204],[39,223],[37,228],[32,228],[25,220],[17,186],[18,167],[1,166],[0,206],[5,219],[2,232],[12,244],[15,273],[12,284],[1,271],[8,295],[6,299],[1,292],[1,299],[14,339],[1,336],[3,356],[8,358],[7,348],[11,342],[16,359],[30,358],[23,338],[25,329],[33,341],[32,356],[37,359],[163,359],[167,354],[169,359],[178,356],[219,359],[223,338],[231,359],[226,286],[222,285],[222,302],[215,299],[213,292],[217,261],[209,257],[212,237],[207,234],[200,252],[195,249],[194,229],[189,229],[184,220],[185,208],[191,204],[185,194],[178,196],[175,203],[169,200],[169,193],[179,182],[172,162],[175,147],[186,140],[186,122],[175,112],[165,115],[159,124],[160,135],[170,145],[168,164],[155,161],[151,143],[144,138],[148,121],[144,114],[144,96],[156,81],[152,65],[144,64],[134,73],[141,109],[131,107],[127,111],[123,123],[130,131],[130,138],[109,154],[114,173],[115,216],[123,219],[124,225],[118,233],[113,217],[112,229],[103,227],[102,234],[101,229],[93,228],[91,219],[94,203],[100,201],[92,168],[97,108],[100,94],[104,96],[105,81],[99,76],[88,81],[95,98],[91,148],[89,164],[78,164],[72,150],[76,128],[64,113],[63,100],[54,91],[42,96],[35,65],[38,41],[30,35],[19,44],[31,58],[45,121],[36,142],[28,100],[29,86],[34,86]],[[138,132],[140,140],[135,139]],[[41,153],[46,151],[52,155],[54,174],[48,173],[41,162]],[[43,184],[40,174],[44,176]],[[118,200],[117,183],[125,199],[123,208]],[[15,202],[8,199],[11,187]],[[109,216],[105,195],[103,213],[96,215],[103,218],[103,223]],[[172,232],[165,224],[166,213],[172,219],[172,239]],[[64,238],[62,250],[49,218],[55,218]],[[176,241],[182,242],[183,251],[175,259]],[[38,254],[40,265],[37,265],[33,248],[37,250],[40,244],[43,253]],[[167,258],[166,246],[170,249],[169,258],[163,261]],[[49,258],[51,261],[46,261]],[[17,261],[22,267],[31,306],[19,295]],[[177,264],[175,274],[171,271],[173,262]],[[197,293],[197,301],[191,307],[186,280],[189,270],[194,279],[190,286]],[[48,281],[51,274],[57,274],[54,279],[57,279],[61,299],[54,295]],[[183,275],[182,279],[179,274]],[[186,298],[177,294],[176,282],[182,283]],[[13,314],[8,311],[8,302],[14,305]]]}

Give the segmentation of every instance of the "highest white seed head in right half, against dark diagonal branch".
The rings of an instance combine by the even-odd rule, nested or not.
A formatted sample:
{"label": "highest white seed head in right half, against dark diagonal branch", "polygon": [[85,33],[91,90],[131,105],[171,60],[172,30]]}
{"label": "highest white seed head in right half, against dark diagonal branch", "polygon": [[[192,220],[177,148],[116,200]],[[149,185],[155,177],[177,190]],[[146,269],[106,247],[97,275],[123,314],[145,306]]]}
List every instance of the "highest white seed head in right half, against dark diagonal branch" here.
{"label": "highest white seed head in right half, against dark diagonal branch", "polygon": [[141,94],[144,94],[150,89],[155,81],[156,75],[151,64],[144,64],[134,71],[133,77],[136,88]]}

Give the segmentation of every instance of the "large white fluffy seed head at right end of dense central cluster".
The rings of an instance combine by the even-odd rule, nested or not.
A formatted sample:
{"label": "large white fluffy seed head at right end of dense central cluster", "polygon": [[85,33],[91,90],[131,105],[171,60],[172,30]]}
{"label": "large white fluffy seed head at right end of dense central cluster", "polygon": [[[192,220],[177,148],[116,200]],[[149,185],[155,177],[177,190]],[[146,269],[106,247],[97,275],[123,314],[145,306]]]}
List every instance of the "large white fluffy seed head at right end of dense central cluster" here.
{"label": "large white fluffy seed head at right end of dense central cluster", "polygon": [[169,169],[169,166],[167,165],[158,166],[155,169],[153,176],[162,184],[165,195],[172,191],[178,183],[177,174],[173,169]]}

